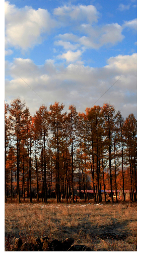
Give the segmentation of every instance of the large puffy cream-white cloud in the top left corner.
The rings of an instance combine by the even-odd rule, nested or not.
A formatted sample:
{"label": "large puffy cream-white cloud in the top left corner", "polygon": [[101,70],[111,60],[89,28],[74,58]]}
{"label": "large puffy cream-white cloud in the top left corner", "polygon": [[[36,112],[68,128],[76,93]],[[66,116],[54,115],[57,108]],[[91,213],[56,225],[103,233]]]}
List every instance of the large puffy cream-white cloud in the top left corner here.
{"label": "large puffy cream-white cloud in the top left corner", "polygon": [[47,10],[25,6],[17,8],[5,2],[5,36],[6,46],[27,49],[40,44],[42,34],[49,33],[55,26]]}

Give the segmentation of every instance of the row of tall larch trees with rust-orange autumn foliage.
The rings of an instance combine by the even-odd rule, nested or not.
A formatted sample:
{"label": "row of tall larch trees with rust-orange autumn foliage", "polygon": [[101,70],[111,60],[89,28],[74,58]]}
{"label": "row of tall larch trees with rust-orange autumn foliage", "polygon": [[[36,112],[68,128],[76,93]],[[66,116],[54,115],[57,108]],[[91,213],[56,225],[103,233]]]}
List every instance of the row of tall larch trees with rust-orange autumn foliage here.
{"label": "row of tall larch trees with rust-orange autumn foliage", "polygon": [[[131,190],[136,200],[136,119],[126,120],[114,105],[86,108],[42,105],[31,116],[19,98],[5,102],[5,202],[7,197],[34,194],[47,203],[55,191],[57,202],[70,201],[76,189],[92,189],[94,202],[101,190]],[[96,192],[95,192],[96,191]],[[134,193],[135,191],[135,193]],[[33,194],[34,193],[34,194]],[[85,200],[87,199],[84,193]],[[116,201],[118,201],[116,193]]]}

